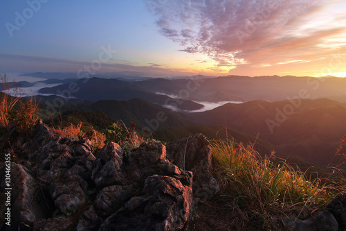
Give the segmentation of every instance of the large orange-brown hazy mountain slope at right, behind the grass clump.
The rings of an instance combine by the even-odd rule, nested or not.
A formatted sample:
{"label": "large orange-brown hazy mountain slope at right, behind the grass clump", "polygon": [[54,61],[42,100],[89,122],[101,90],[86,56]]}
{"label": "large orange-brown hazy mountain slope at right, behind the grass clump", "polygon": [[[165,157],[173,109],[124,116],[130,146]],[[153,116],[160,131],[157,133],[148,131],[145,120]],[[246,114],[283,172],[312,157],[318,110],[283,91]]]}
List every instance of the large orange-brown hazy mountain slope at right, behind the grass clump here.
{"label": "large orange-brown hazy mountain slope at right, behind the grass clump", "polygon": [[277,146],[284,155],[299,155],[326,164],[346,135],[346,104],[329,99],[228,103],[215,110],[191,114],[199,123],[227,127]]}

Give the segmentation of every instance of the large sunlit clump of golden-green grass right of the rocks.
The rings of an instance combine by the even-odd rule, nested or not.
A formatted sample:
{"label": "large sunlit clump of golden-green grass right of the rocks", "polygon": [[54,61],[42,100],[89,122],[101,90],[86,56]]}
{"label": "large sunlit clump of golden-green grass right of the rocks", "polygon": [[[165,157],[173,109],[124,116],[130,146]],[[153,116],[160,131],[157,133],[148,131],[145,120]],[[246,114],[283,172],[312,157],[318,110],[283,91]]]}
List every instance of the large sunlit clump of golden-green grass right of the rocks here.
{"label": "large sunlit clump of golden-green grass right of the rocks", "polygon": [[262,158],[253,146],[212,142],[212,157],[215,173],[221,178],[218,200],[224,208],[237,209],[242,221],[248,221],[237,225],[242,228],[251,224],[277,230],[273,217],[280,221],[285,216],[309,214],[341,190],[335,182],[325,181],[322,185],[318,178],[310,181],[284,160],[275,164],[274,155]]}

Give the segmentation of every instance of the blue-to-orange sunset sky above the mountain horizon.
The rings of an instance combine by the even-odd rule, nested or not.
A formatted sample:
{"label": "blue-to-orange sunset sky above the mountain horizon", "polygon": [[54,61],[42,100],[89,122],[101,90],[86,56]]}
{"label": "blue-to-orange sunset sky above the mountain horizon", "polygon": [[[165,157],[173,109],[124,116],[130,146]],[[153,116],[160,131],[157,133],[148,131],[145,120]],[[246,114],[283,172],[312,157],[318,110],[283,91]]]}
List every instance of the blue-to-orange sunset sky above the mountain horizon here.
{"label": "blue-to-orange sunset sky above the mountain horizon", "polygon": [[0,1],[0,73],[346,76],[346,0]]}

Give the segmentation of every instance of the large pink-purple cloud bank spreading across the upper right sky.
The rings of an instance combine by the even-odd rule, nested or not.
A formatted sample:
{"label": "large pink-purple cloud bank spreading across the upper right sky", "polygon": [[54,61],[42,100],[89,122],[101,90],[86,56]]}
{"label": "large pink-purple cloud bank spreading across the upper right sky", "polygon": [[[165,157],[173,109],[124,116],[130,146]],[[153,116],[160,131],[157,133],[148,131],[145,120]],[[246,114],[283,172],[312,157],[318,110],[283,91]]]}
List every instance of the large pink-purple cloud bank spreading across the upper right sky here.
{"label": "large pink-purple cloud bank spreading across the upper right sky", "polygon": [[[150,2],[152,0],[146,0]],[[217,67],[271,65],[321,54],[315,48],[345,24],[307,26],[325,0],[172,0],[156,4],[159,31],[187,53],[204,53]],[[315,17],[315,18],[314,18]],[[331,17],[332,18],[332,17]],[[305,53],[305,55],[304,55]],[[274,60],[275,59],[275,60]]]}

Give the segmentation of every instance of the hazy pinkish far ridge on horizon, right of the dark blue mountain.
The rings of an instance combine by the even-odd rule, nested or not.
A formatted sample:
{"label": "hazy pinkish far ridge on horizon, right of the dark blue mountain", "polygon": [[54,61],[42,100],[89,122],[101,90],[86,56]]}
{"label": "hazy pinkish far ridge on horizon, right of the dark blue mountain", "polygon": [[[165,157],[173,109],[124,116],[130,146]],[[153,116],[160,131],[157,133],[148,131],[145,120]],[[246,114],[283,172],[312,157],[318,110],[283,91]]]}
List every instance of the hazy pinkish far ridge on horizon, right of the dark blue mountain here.
{"label": "hazy pinkish far ridge on horizon, right of the dark blue mountain", "polygon": [[284,101],[292,98],[346,98],[346,78],[294,76],[223,76],[168,80],[153,78],[137,83],[149,92],[164,92],[192,101]]}

